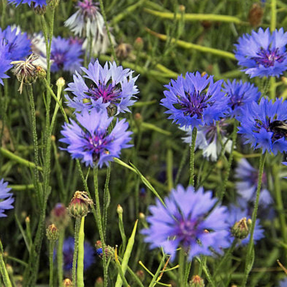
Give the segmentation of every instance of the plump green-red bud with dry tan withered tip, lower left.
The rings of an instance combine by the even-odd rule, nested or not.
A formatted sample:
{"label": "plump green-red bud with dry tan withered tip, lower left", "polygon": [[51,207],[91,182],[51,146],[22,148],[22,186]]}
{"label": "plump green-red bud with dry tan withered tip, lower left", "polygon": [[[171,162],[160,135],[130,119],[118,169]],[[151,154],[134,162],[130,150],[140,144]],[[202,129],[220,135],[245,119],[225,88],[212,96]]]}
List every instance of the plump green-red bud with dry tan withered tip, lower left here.
{"label": "plump green-red bud with dry tan withered tip, lower left", "polygon": [[92,204],[93,201],[86,191],[76,191],[68,206],[69,215],[73,217],[86,216]]}

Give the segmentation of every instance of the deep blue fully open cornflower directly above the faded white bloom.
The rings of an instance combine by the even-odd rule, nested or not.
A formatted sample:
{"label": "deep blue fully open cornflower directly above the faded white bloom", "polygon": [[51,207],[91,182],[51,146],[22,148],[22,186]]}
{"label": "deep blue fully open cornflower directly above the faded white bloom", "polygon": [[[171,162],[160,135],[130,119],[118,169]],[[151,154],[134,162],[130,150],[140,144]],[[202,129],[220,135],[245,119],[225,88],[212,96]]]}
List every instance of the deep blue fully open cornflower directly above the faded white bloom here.
{"label": "deep blue fully open cornflower directly above the faded white bloom", "polygon": [[212,123],[224,115],[228,106],[228,98],[221,91],[223,80],[213,81],[213,76],[199,72],[187,72],[185,78],[180,75],[177,80],[170,80],[168,91],[161,104],[171,114],[168,119],[183,126],[198,127]]}

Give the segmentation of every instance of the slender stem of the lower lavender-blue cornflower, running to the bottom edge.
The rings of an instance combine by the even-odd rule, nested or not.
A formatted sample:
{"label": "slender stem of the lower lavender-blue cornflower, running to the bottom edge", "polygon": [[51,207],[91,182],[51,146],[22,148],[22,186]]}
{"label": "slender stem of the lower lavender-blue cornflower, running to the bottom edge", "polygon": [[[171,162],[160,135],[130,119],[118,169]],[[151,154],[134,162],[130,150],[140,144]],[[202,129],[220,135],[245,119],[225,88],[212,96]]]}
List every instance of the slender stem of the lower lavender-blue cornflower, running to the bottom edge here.
{"label": "slender stem of the lower lavender-blue cornflower, running to the bottom edge", "polygon": [[105,241],[104,241],[104,232],[102,226],[102,216],[100,210],[100,197],[99,197],[99,188],[98,188],[98,167],[94,166],[93,168],[94,173],[94,187],[95,187],[95,199],[96,199],[96,216],[97,216],[97,224],[98,230],[100,233],[100,239],[102,243],[102,250],[103,250],[103,269],[104,269],[104,287],[108,286],[108,269],[107,269],[107,262],[106,262],[106,252],[105,252]]}

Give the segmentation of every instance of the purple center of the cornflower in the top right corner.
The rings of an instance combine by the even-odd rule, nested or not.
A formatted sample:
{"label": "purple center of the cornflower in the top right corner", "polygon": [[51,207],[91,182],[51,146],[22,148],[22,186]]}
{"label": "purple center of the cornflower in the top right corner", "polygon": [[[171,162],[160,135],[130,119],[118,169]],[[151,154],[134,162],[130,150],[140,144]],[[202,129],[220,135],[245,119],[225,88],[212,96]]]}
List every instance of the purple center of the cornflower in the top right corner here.
{"label": "purple center of the cornflower in the top right corner", "polygon": [[258,57],[252,57],[251,59],[255,60],[257,65],[263,65],[265,68],[273,67],[276,61],[282,63],[286,57],[286,53],[279,53],[278,48],[265,50],[261,47],[256,54]]}

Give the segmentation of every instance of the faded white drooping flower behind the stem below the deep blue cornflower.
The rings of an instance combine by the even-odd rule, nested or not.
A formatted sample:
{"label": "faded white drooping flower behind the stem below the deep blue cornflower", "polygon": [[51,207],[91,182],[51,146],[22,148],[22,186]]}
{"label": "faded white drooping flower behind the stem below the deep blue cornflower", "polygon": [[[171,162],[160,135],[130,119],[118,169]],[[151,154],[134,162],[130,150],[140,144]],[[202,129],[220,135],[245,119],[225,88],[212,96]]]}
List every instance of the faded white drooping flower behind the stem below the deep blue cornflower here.
{"label": "faded white drooping flower behind the stem below the deep blue cornflower", "polygon": [[[232,147],[232,140],[228,139],[228,123],[221,119],[220,121],[214,121],[210,125],[199,126],[197,128],[197,135],[195,140],[195,148],[202,150],[202,154],[205,158],[210,158],[212,161],[216,161],[222,150],[222,144],[224,151],[230,153]],[[192,128],[181,128],[187,132],[187,137],[183,137],[183,141],[191,145]],[[218,131],[221,139],[218,138]]]}

